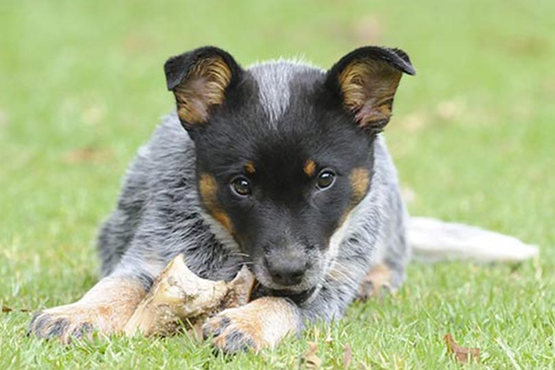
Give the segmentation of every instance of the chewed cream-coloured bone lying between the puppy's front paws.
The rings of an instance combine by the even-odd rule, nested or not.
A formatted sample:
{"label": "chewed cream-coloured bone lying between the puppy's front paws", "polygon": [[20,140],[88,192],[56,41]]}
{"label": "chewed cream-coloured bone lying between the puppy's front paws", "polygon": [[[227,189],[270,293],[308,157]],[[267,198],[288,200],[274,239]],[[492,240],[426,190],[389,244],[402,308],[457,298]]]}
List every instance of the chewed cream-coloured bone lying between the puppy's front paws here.
{"label": "chewed cream-coloured bone lying between the puppy's front paws", "polygon": [[254,275],[243,267],[230,283],[203,279],[185,264],[184,256],[174,258],[153,282],[125,325],[125,334],[169,336],[182,325],[199,337],[201,325],[212,314],[247,304]]}

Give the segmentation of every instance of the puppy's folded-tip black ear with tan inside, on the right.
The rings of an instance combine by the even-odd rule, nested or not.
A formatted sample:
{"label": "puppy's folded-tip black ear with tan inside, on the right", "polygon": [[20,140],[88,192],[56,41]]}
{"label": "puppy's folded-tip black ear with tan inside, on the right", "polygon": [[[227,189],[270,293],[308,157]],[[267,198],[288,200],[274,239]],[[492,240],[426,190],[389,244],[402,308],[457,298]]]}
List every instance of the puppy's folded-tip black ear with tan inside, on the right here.
{"label": "puppy's folded-tip black ear with tan inside, on the right", "polygon": [[404,51],[361,47],[332,66],[325,84],[360,127],[380,132],[391,117],[393,97],[403,73],[416,73]]}

